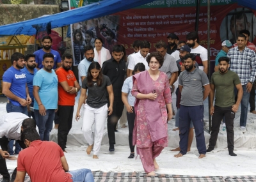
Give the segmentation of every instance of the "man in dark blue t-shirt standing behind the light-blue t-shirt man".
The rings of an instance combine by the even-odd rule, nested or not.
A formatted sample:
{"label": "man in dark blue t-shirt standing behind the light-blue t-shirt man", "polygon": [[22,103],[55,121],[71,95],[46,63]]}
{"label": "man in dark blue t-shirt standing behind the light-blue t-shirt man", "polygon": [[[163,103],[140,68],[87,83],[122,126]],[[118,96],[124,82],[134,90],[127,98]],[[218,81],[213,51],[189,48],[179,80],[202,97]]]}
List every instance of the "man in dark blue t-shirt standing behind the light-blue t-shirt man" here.
{"label": "man in dark blue t-shirt standing behind the light-blue t-shirt man", "polygon": [[56,50],[52,50],[52,38],[51,36],[44,36],[42,38],[42,45],[43,45],[43,49],[40,50],[36,50],[36,52],[34,52],[35,56],[36,56],[36,67],[41,69],[44,68],[44,65],[42,64],[43,61],[43,56],[45,53],[51,53],[54,56],[54,65],[53,65],[53,69],[56,68],[60,68],[61,66],[61,57],[59,52],[57,52]]}

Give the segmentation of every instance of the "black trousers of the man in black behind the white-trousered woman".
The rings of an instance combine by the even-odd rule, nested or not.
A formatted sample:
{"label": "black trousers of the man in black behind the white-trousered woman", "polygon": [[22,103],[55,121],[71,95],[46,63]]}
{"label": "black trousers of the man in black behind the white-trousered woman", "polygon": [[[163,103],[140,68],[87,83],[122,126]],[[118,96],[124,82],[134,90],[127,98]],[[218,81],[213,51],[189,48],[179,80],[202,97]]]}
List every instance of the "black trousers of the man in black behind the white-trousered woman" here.
{"label": "black trousers of the man in black behind the white-trousered woman", "polygon": [[[108,99],[108,107],[109,107],[109,98]],[[115,129],[118,120],[122,116],[122,112],[124,109],[124,103],[122,102],[122,97],[121,96],[116,96],[114,98],[114,103],[113,103],[113,112],[110,116],[108,116],[108,139],[109,139],[109,144],[116,144],[116,139],[115,139]]]}

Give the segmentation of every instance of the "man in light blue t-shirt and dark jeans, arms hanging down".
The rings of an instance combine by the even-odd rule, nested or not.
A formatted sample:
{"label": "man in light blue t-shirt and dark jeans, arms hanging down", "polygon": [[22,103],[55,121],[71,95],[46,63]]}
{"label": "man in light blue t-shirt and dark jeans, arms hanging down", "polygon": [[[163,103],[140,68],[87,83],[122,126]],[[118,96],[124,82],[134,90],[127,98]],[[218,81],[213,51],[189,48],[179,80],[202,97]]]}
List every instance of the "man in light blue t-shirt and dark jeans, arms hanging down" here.
{"label": "man in light blue t-shirt and dark jeans, arms hanging down", "polygon": [[54,56],[45,53],[42,62],[44,68],[33,79],[34,112],[40,139],[49,141],[56,109],[58,108],[58,78],[52,67]]}

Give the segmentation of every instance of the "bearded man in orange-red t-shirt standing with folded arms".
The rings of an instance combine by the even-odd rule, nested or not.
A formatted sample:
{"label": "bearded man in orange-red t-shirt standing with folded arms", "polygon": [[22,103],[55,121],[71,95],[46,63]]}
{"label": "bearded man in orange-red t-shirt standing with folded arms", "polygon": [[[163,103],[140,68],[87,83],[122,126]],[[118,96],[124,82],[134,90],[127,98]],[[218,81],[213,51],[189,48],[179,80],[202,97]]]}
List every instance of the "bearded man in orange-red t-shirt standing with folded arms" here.
{"label": "bearded man in orange-red t-shirt standing with folded arms", "polygon": [[[74,73],[70,70],[72,66],[72,55],[64,54],[61,57],[62,66],[56,71],[58,76],[58,144],[65,151],[68,132],[72,127],[73,111],[77,91],[80,90],[79,83]],[[66,151],[65,151],[66,152]]]}

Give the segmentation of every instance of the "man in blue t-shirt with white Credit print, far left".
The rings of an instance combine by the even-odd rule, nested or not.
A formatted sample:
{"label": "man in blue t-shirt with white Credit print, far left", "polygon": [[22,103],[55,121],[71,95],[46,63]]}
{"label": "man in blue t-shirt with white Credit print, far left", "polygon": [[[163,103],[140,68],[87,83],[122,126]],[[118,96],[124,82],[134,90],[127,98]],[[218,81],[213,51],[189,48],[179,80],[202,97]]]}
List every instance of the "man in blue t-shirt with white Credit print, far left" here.
{"label": "man in blue t-shirt with white Credit print, far left", "polygon": [[8,98],[7,112],[21,112],[28,115],[27,105],[31,103],[26,73],[24,72],[24,55],[15,52],[11,56],[12,66],[3,75],[3,94]]}

